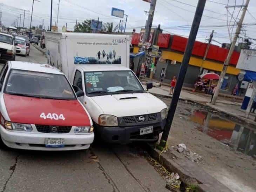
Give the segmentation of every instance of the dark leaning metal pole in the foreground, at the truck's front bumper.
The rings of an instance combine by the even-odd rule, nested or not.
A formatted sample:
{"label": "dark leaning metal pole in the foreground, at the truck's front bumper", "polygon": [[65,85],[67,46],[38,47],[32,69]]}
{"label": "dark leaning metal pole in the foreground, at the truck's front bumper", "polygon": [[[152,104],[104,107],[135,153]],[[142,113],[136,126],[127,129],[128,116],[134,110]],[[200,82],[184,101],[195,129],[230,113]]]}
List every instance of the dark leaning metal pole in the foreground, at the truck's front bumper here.
{"label": "dark leaning metal pole in the foreground, at the truck's front bumper", "polygon": [[194,20],[190,29],[189,37],[188,37],[186,50],[184,52],[184,56],[182,59],[180,72],[178,74],[177,84],[174,90],[173,98],[171,99],[171,106],[169,108],[167,119],[166,119],[167,122],[164,127],[164,131],[163,131],[161,142],[160,142],[160,146],[163,148],[166,147],[166,141],[168,139],[169,132],[171,129],[171,124],[173,122],[173,118],[175,115],[175,110],[177,108],[177,103],[180,97],[182,84],[184,82],[185,75],[188,69],[188,63],[192,54],[193,46],[196,40],[196,35],[198,32],[198,28],[200,26],[205,4],[206,4],[206,0],[198,0]]}

